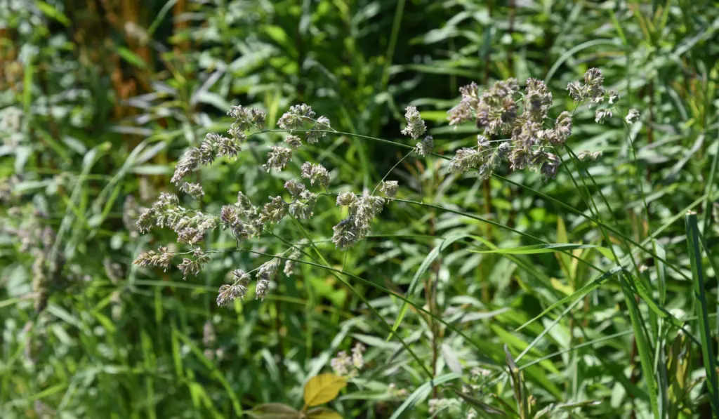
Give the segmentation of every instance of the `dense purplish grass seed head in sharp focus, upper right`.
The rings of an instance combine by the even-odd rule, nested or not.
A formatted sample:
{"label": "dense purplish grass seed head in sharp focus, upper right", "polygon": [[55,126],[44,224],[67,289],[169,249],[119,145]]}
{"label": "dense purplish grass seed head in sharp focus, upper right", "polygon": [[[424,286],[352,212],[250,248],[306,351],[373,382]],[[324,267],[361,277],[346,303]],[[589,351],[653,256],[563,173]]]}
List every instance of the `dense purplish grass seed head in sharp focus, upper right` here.
{"label": "dense purplish grass seed head in sharp focus, upper right", "polygon": [[[576,101],[603,101],[604,78],[600,70],[587,70],[584,81],[569,83],[569,94]],[[459,89],[462,99],[447,112],[449,124],[474,121],[484,132],[477,137],[476,147],[464,147],[455,152],[449,162],[450,172],[477,170],[480,179],[487,179],[508,160],[512,170],[528,167],[544,175],[545,180],[554,178],[560,160],[549,150],[563,147],[567,142],[572,134],[572,114],[563,111],[554,124],[547,120],[553,97],[544,81],[528,78],[523,94],[519,90],[517,80],[513,78],[497,81],[483,92],[476,83]],[[619,98],[615,91],[609,96],[612,102]],[[601,109],[597,111],[597,122],[609,116],[608,109]],[[509,139],[487,139],[507,135]],[[490,147],[492,143],[498,145]]]}

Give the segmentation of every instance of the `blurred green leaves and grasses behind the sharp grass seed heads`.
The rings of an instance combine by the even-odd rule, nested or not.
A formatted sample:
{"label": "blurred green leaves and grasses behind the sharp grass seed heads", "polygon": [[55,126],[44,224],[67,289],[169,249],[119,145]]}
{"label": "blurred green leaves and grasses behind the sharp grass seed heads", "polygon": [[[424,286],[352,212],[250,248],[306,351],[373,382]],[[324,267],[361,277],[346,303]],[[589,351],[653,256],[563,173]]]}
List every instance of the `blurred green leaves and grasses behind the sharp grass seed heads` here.
{"label": "blurred green leaves and grasses behind the sharp grass seed heads", "polygon": [[[696,211],[705,239],[700,267],[716,349],[718,29],[719,3],[704,0],[0,0],[0,416],[232,418],[262,402],[298,406],[308,377],[362,342],[365,369],[331,402],[344,418],[456,418],[470,409],[534,417],[521,399],[533,413],[597,402],[552,418],[650,418],[656,397],[664,418],[710,418],[707,342],[691,339],[700,331],[683,217]],[[411,104],[444,154],[478,132],[446,124],[460,86],[540,78],[555,106],[571,111],[567,83],[590,67],[603,70],[623,109],[641,111],[641,123],[627,133],[620,118],[597,125],[592,111],[574,116],[572,149],[603,151],[589,165],[596,184],[587,196],[599,203],[602,192],[605,220],[685,274],[638,256],[651,295],[693,333],[646,323],[658,389],[640,365],[618,282],[516,331],[596,276],[578,259],[609,269],[608,259],[591,248],[572,251],[575,259],[472,253],[534,243],[457,213],[393,206],[346,262],[326,247],[333,266],[400,295],[421,280],[413,300],[453,328],[411,309],[400,335],[434,377],[461,377],[434,390],[404,347],[385,339],[383,321],[395,321],[401,300],[375,287],[349,279],[382,318],[311,266],[283,277],[264,303],[218,308],[226,272],[258,264],[249,254],[216,258],[186,281],[132,265],[140,250],[174,241],[139,236],[137,211],[175,191],[174,162],[226,129],[231,105],[265,109],[273,126],[306,102],[340,132],[411,144],[400,136]],[[403,156],[342,135],[310,149],[332,167],[335,185],[354,190],[371,190]],[[248,152],[203,172],[204,201],[276,194],[283,179],[260,176],[261,162]],[[568,173],[544,183],[505,167],[510,181],[480,182],[446,175],[439,159],[408,159],[393,178],[405,196],[545,241],[606,246],[578,215],[590,208]],[[334,206],[317,212],[320,231],[340,219]],[[651,318],[644,300],[638,313]],[[519,397],[505,346],[523,355]],[[473,367],[496,381],[463,390]],[[430,398],[448,407],[430,413]]]}

